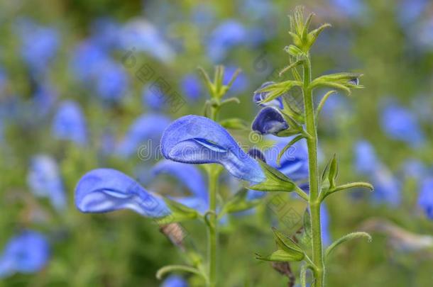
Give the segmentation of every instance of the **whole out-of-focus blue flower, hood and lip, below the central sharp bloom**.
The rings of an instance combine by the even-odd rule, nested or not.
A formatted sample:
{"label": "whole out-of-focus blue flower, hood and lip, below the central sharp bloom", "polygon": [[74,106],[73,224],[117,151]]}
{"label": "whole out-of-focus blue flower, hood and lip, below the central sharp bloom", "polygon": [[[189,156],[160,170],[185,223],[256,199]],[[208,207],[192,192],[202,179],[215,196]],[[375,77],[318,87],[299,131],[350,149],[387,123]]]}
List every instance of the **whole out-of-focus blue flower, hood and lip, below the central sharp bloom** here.
{"label": "whole out-of-focus blue flower, hood and lip, below the central sharp bloom", "polygon": [[185,206],[199,210],[204,213],[209,208],[207,186],[199,169],[192,164],[182,164],[172,162],[167,159],[155,164],[152,169],[153,175],[168,174],[175,177],[177,182],[187,187],[192,196],[174,196],[175,201],[179,201]]}

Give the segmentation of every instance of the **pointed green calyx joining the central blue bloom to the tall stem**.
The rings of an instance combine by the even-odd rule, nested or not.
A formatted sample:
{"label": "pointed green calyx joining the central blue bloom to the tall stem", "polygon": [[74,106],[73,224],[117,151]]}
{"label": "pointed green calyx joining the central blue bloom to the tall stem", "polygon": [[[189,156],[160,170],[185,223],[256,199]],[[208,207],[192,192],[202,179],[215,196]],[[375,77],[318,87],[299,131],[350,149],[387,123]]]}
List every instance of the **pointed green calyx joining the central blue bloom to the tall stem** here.
{"label": "pointed green calyx joining the central blue bloom to the tall stem", "polygon": [[256,190],[256,191],[294,191],[295,183],[289,179],[285,174],[281,173],[277,169],[270,167],[270,165],[258,161],[261,165],[263,173],[265,174],[265,181],[260,184],[255,184],[253,186],[248,186],[248,188]]}

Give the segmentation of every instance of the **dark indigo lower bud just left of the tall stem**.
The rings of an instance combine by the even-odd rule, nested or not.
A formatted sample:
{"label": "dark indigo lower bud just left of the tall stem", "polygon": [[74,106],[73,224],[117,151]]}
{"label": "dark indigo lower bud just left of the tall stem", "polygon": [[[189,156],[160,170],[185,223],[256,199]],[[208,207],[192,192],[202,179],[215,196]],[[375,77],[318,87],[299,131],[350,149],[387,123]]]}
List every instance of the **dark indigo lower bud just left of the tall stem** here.
{"label": "dark indigo lower bud just left of the tall stem", "polygon": [[277,135],[280,131],[287,130],[289,125],[278,108],[267,106],[258,112],[251,128],[261,135]]}

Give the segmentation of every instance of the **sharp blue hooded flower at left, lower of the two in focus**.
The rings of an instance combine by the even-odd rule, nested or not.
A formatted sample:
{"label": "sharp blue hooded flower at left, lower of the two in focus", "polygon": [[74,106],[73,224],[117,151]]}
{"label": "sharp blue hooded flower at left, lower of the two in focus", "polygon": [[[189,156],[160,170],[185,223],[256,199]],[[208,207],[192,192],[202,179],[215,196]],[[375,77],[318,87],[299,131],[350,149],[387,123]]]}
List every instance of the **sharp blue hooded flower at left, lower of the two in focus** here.
{"label": "sharp blue hooded flower at left, lower of the two in focus", "polygon": [[127,208],[150,218],[170,214],[162,198],[115,169],[94,169],[84,174],[75,188],[75,206],[83,213]]}

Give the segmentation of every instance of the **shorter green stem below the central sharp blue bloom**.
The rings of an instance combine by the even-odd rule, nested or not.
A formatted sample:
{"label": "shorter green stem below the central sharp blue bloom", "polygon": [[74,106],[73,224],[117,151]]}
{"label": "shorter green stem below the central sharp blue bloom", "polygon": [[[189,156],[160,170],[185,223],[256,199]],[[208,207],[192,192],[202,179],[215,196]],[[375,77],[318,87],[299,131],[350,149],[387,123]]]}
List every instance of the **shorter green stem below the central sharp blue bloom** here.
{"label": "shorter green stem below the central sharp blue bloom", "polygon": [[208,226],[208,263],[209,286],[217,286],[217,247],[218,247],[218,222],[217,222],[217,190],[219,172],[214,167],[209,167],[209,224]]}

